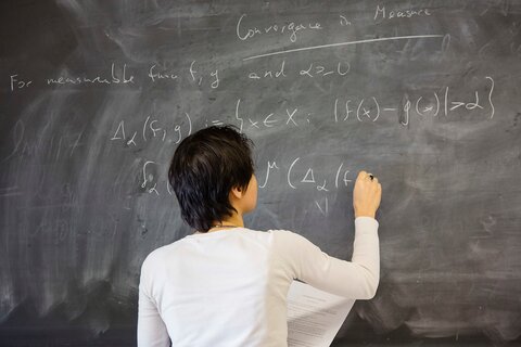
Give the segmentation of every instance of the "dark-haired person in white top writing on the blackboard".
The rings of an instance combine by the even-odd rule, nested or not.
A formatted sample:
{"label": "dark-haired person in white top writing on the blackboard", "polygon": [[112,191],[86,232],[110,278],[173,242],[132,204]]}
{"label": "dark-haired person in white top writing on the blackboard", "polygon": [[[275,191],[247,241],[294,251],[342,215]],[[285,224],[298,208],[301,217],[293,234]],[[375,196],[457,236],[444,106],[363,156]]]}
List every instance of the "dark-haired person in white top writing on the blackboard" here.
{"label": "dark-haired person in white top writing on the blackboard", "polygon": [[168,177],[182,219],[196,232],[144,260],[138,346],[287,346],[294,279],[353,299],[374,296],[378,179],[359,172],[352,261],[336,259],[296,233],[244,227],[257,201],[251,145],[225,126],[200,130],[177,147]]}

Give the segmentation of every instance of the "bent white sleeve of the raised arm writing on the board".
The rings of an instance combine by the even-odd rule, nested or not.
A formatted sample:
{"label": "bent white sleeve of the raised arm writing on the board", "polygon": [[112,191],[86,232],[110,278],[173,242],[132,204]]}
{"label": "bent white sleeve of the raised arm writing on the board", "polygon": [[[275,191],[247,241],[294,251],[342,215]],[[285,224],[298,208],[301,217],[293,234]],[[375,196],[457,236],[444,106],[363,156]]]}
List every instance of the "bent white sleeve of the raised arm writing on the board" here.
{"label": "bent white sleeve of the raised arm writing on the board", "polygon": [[276,233],[276,248],[293,279],[343,297],[370,299],[380,281],[378,227],[373,218],[355,219],[352,261],[331,257],[307,239],[290,231]]}

